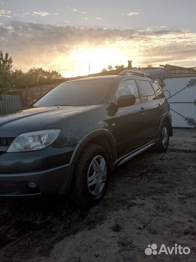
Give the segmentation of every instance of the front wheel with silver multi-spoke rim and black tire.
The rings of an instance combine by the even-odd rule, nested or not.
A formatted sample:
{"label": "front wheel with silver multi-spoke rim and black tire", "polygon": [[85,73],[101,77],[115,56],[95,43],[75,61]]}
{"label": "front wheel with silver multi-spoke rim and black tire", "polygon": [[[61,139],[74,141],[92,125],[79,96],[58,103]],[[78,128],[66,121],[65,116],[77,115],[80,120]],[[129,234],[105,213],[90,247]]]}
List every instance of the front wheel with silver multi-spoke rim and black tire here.
{"label": "front wheel with silver multi-spoke rim and black tire", "polygon": [[72,184],[74,203],[82,208],[97,204],[106,193],[108,175],[109,160],[105,149],[99,145],[87,145],[75,166]]}

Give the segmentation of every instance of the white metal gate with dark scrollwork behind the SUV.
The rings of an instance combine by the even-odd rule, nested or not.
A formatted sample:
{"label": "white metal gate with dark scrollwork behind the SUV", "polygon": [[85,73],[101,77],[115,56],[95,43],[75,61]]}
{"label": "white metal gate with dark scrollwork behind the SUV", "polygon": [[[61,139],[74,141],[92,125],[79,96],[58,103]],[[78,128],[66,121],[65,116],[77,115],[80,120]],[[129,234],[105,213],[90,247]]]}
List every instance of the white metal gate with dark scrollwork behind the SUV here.
{"label": "white metal gate with dark scrollwork behind the SUV", "polygon": [[196,128],[196,77],[166,78],[164,82],[172,126]]}

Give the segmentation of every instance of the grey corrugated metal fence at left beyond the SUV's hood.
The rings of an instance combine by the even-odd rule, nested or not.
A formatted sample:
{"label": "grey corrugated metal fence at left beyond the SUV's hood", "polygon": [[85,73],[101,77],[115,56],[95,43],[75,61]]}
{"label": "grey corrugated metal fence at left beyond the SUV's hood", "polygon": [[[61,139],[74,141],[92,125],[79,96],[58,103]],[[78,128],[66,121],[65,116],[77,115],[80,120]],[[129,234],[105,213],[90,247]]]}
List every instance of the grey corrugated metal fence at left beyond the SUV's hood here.
{"label": "grey corrugated metal fence at left beyond the SUV's hood", "polygon": [[0,96],[0,114],[22,109],[22,102],[19,95]]}

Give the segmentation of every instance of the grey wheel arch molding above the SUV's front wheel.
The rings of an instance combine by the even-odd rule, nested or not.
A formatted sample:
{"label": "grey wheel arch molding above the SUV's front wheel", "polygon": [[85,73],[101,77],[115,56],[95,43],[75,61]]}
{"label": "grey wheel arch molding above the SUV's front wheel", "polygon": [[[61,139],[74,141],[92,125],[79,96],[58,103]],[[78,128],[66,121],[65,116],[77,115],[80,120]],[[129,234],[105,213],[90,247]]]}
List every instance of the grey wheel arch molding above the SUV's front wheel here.
{"label": "grey wheel arch molding above the SUV's front wheel", "polygon": [[105,136],[106,139],[108,140],[109,146],[112,151],[112,163],[115,163],[117,159],[117,148],[116,148],[116,141],[115,141],[113,134],[107,129],[96,129],[96,130],[89,132],[78,142],[78,144],[75,147],[72,158],[70,160],[70,164],[75,164],[75,162],[77,161],[85,145],[89,143],[90,140],[98,136]]}

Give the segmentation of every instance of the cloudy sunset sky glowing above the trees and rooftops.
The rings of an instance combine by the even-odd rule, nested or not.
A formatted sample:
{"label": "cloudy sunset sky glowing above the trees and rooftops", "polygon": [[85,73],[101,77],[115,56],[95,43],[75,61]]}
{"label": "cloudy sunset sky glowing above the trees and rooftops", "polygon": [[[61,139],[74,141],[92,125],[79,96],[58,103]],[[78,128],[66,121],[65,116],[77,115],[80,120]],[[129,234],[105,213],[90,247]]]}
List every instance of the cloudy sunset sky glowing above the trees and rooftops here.
{"label": "cloudy sunset sky glowing above the trees and rooftops", "polygon": [[108,65],[196,66],[196,0],[0,0],[13,68],[63,76]]}

